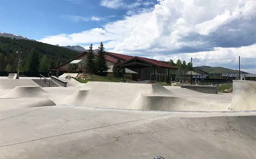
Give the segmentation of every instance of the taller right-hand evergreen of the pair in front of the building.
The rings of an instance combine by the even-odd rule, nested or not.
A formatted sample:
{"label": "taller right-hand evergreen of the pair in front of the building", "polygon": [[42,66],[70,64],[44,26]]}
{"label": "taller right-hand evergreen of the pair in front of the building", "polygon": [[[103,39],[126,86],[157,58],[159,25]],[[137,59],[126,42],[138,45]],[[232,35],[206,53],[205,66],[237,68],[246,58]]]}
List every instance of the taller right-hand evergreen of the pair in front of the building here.
{"label": "taller right-hand evergreen of the pair in front of the building", "polygon": [[108,74],[108,66],[107,66],[107,61],[105,59],[105,52],[104,52],[104,46],[103,43],[100,42],[100,46],[98,47],[99,50],[97,50],[97,57],[96,57],[96,70],[97,70],[97,75],[99,76],[107,76]]}

